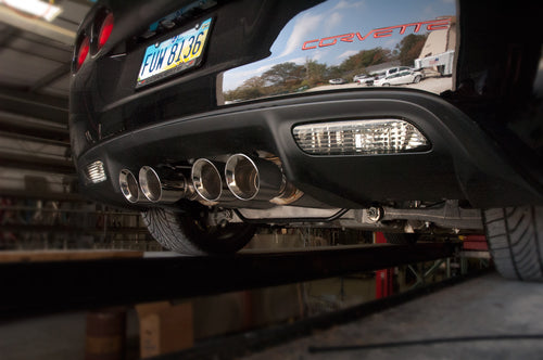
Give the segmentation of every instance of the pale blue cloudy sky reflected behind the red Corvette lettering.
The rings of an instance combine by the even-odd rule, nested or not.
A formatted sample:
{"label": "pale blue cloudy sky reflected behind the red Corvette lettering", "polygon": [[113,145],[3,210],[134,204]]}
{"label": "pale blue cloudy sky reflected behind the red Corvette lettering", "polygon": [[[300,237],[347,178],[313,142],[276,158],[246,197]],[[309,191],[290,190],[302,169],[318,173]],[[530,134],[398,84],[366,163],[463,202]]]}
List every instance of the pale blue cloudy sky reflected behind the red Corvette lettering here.
{"label": "pale blue cloudy sky reflected behind the red Corvette lettering", "polygon": [[[361,50],[377,47],[392,50],[405,35],[413,34],[413,27],[409,27],[405,35],[397,34],[396,29],[392,36],[386,38],[368,37],[364,41],[355,38],[353,42],[338,41],[332,47],[303,51],[302,44],[307,40],[356,31],[365,36],[376,28],[428,21],[455,13],[455,0],[327,1],[290,21],[272,46],[269,57],[225,73],[225,90],[239,87],[244,80],[262,75],[278,63],[303,64],[306,60],[315,60],[328,65],[338,65]],[[420,30],[418,34],[425,33],[426,30]]]}

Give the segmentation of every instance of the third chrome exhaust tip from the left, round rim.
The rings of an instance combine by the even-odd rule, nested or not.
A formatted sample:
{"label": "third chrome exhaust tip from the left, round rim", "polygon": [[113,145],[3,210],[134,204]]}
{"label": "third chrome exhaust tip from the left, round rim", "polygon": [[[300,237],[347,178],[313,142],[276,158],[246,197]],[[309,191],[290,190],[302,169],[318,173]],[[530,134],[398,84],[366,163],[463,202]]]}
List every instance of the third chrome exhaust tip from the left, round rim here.
{"label": "third chrome exhaust tip from the left, round rim", "polygon": [[197,193],[209,202],[215,202],[223,193],[223,179],[217,167],[206,158],[199,158],[192,165],[192,184]]}

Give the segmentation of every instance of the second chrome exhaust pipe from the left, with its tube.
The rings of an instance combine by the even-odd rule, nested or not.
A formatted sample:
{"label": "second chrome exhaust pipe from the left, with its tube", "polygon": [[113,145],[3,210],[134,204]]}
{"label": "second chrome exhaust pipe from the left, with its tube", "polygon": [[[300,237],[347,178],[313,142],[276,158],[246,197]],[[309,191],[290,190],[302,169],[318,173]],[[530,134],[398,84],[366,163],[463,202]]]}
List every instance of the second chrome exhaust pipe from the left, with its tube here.
{"label": "second chrome exhaust pipe from the left, with its tube", "polygon": [[161,170],[160,175],[150,166],[139,170],[141,192],[152,203],[173,204],[182,197],[191,197],[191,190],[181,173]]}

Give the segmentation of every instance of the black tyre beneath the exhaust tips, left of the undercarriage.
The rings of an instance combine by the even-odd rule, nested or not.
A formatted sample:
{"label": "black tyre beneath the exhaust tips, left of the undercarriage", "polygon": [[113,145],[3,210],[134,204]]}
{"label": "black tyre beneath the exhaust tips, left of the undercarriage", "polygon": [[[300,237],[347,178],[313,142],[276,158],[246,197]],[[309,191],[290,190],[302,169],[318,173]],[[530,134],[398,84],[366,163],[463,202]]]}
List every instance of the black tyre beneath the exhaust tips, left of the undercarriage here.
{"label": "black tyre beneath the exhaust tips, left of the undercarriage", "polygon": [[236,253],[249,243],[256,229],[247,223],[210,226],[206,207],[202,207],[198,215],[151,208],[141,216],[151,235],[162,246],[189,255]]}

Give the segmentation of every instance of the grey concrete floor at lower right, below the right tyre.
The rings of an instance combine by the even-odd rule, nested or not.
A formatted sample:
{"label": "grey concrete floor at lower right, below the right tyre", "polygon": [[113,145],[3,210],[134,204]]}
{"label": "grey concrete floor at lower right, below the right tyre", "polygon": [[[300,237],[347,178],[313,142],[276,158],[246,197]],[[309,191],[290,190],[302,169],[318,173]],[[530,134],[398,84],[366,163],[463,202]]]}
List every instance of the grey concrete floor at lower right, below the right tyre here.
{"label": "grey concrete floor at lower right, below the right tyre", "polygon": [[[243,359],[543,359],[542,304],[543,284],[489,274]],[[475,340],[504,335],[520,337]],[[527,335],[539,338],[522,338]],[[456,342],[459,337],[471,339]],[[450,340],[424,342],[437,338]],[[409,340],[421,342],[391,344]],[[383,345],[310,352],[311,347],[376,344]]]}

